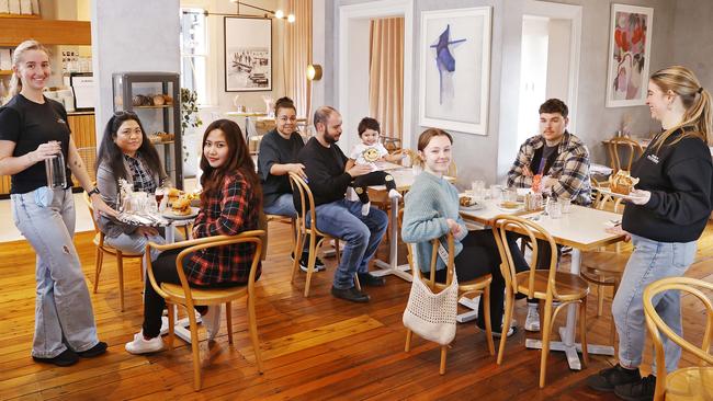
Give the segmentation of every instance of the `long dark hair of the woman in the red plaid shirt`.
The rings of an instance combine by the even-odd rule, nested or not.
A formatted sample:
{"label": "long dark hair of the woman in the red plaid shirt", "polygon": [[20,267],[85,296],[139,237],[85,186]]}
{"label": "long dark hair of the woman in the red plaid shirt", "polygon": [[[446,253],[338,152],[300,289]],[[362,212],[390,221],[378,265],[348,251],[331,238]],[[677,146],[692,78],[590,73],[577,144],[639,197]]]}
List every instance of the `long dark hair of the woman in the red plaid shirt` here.
{"label": "long dark hair of the woman in the red plaid shirt", "polygon": [[[248,181],[256,199],[262,199],[262,188],[260,187],[260,179],[254,172],[254,163],[248,151],[248,146],[242,137],[242,131],[238,124],[230,119],[216,119],[205,128],[203,134],[203,141],[201,149],[205,147],[205,140],[213,130],[219,129],[223,131],[225,141],[228,145],[228,160],[225,164],[214,169],[205,158],[205,152],[201,150],[201,186],[203,186],[203,194],[201,194],[201,203],[205,204],[204,196],[210,196],[216,191],[220,191],[225,175],[233,171],[239,171],[242,176]],[[259,205],[261,202],[258,203]]]}

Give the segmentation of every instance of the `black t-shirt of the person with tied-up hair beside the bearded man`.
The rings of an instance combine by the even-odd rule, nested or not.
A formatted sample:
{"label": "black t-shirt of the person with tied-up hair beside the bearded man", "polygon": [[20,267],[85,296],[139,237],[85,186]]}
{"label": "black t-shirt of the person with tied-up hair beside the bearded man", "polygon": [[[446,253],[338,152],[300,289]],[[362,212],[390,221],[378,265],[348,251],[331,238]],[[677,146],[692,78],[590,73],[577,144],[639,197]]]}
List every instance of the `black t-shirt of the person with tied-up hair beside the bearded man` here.
{"label": "black t-shirt of the person with tied-up hair beside the bearded man", "polygon": [[291,194],[292,186],[287,174],[270,174],[272,164],[287,164],[297,162],[297,153],[305,146],[297,133],[292,133],[290,139],[285,139],[278,130],[273,129],[265,134],[260,141],[258,153],[258,175],[262,184],[262,199],[265,206],[271,205],[282,194]]}

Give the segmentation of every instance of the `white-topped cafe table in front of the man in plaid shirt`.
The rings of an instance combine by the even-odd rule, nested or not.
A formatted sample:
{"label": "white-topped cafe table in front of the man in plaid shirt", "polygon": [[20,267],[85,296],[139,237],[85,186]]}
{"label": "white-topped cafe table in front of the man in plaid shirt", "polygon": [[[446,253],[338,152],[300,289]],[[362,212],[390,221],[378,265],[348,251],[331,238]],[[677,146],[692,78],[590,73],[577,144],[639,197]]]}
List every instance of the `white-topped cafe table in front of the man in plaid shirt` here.
{"label": "white-topped cafe table in front of the man in plaid shirt", "polygon": [[[478,214],[478,211],[461,211],[466,220],[479,224],[491,225],[494,217],[491,210]],[[579,274],[581,251],[593,251],[600,247],[606,247],[624,240],[624,234],[607,232],[607,228],[612,227],[613,222],[621,221],[621,215],[599,210],[589,207],[573,205],[569,213],[563,214],[562,218],[550,218],[542,211],[523,214],[520,217],[531,219],[542,226],[555,240],[557,244],[571,247],[571,267],[573,274]],[[577,352],[581,352],[581,344],[575,342],[575,328],[577,320],[577,306],[567,307],[566,324],[559,328],[562,341],[550,342],[550,350],[562,351],[567,355],[567,362],[570,369],[581,369],[581,363]],[[542,348],[542,341],[528,339],[525,340],[528,348]],[[614,355],[614,348],[607,345],[588,344],[589,354]]]}

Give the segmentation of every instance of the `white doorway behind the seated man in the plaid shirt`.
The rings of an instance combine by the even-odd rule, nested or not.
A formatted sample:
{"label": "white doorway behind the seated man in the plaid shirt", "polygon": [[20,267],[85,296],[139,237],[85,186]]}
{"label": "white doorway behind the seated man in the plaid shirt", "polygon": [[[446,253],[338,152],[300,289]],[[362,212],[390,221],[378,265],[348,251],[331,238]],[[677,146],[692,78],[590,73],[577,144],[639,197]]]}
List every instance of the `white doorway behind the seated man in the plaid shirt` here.
{"label": "white doorway behind the seated man in the plaid shirt", "polygon": [[576,131],[581,7],[527,0],[522,15],[518,144],[539,133],[537,108],[557,98]]}

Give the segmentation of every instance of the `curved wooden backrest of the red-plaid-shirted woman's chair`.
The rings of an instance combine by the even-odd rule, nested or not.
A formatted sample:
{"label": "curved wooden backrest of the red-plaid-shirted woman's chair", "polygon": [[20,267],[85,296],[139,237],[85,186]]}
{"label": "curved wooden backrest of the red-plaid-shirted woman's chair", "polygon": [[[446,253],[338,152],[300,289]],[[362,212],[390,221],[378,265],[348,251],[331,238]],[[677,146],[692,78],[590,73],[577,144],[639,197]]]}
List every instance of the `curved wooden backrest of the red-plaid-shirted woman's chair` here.
{"label": "curved wooden backrest of the red-plaid-shirted woman's chair", "polygon": [[[251,231],[245,231],[240,232],[237,236],[214,236],[214,237],[206,237],[206,238],[200,238],[195,240],[190,240],[190,241],[182,241],[182,242],[177,242],[177,244],[181,244],[184,248],[177,256],[176,259],[176,270],[178,271],[179,275],[179,280],[181,282],[181,287],[183,288],[183,293],[185,294],[185,299],[186,299],[186,305],[189,307],[193,307],[193,296],[191,293],[191,286],[188,282],[188,278],[185,277],[185,272],[183,271],[183,259],[188,256],[189,254],[206,249],[206,248],[214,248],[214,247],[225,247],[225,245],[231,245],[236,243],[244,243],[244,242],[252,242],[256,244],[256,251],[254,254],[252,255],[252,263],[250,265],[250,273],[248,275],[248,291],[253,291],[254,290],[254,276],[258,271],[258,264],[260,264],[260,256],[262,254],[262,247],[263,247],[263,239],[265,237],[265,231],[263,230],[251,230]],[[160,287],[160,285],[156,282],[156,277],[154,276],[154,267],[151,265],[151,257],[150,257],[150,252],[149,252],[149,245],[147,245],[147,250],[145,252],[145,257],[146,257],[146,273],[148,276],[149,282],[151,283],[151,286],[163,298],[168,298],[168,294],[163,291]]]}

